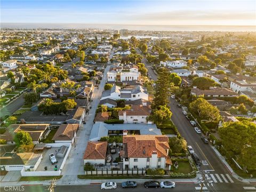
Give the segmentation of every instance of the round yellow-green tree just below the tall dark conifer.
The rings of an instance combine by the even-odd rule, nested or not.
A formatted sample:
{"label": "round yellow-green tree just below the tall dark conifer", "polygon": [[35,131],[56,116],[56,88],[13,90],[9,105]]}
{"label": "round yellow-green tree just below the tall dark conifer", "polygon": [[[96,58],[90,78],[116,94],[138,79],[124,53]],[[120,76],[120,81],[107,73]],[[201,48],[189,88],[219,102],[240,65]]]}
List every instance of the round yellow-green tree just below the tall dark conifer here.
{"label": "round yellow-green tree just below the tall dark conifer", "polygon": [[163,124],[170,120],[172,112],[166,106],[158,106],[152,111],[152,114],[147,117],[147,121],[152,121],[155,124]]}

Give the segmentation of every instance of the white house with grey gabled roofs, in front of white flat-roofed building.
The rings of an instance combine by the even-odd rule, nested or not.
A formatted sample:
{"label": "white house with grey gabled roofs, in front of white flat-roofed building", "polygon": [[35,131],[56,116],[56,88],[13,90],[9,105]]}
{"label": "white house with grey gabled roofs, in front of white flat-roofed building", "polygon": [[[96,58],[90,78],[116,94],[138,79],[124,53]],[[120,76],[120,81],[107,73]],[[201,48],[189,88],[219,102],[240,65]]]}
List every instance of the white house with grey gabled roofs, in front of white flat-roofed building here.
{"label": "white house with grey gabled roofs, in front of white flat-roofed building", "polygon": [[103,99],[125,99],[126,101],[134,101],[137,99],[148,100],[148,92],[145,87],[142,86],[131,86],[126,89],[115,85],[110,90],[102,92],[100,100]]}

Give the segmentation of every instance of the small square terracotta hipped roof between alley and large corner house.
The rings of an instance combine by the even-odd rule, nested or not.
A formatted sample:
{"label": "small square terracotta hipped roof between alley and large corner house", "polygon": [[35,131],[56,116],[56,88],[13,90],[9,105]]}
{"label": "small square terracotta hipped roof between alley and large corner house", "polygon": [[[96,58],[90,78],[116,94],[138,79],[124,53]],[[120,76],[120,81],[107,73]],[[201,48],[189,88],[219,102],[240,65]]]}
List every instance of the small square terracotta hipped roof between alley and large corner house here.
{"label": "small square terracotta hipped roof between alley and large corner house", "polygon": [[105,159],[107,145],[107,141],[88,141],[84,152],[84,159]]}

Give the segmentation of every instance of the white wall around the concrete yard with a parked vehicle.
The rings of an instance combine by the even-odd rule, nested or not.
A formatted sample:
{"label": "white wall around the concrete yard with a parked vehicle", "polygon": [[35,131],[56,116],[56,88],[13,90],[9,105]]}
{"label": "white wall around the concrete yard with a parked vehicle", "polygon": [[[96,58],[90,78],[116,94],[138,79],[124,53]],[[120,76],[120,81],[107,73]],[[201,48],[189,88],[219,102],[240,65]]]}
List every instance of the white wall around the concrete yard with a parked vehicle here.
{"label": "white wall around the concrete yard with a parked vehicle", "polygon": [[67,146],[68,150],[67,153],[65,155],[65,157],[63,158],[63,162],[60,166],[59,171],[26,171],[25,168],[23,168],[21,170],[21,176],[22,177],[28,177],[28,176],[59,176],[61,174],[61,171],[67,161],[69,152],[71,150],[71,143],[47,143],[46,146],[51,146],[51,147],[61,147],[61,146]]}

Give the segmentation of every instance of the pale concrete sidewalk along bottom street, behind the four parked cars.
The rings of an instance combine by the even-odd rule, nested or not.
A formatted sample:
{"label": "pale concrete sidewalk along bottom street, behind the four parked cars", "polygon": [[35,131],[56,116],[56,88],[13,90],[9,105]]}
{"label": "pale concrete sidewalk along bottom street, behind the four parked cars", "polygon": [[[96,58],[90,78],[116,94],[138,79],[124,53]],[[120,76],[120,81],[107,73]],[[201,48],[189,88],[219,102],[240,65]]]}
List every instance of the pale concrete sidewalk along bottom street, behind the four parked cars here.
{"label": "pale concrete sidewalk along bottom street, behind the four parked cars", "polygon": [[[198,183],[197,178],[200,178],[201,174],[197,173],[196,177],[193,179],[154,179],[155,181],[174,181],[175,183],[187,183],[187,184],[196,184]],[[116,183],[122,183],[124,181],[133,181],[134,179],[112,179]],[[152,179],[135,179],[137,183],[144,183]],[[103,182],[110,181],[99,179],[78,179],[76,175],[63,175],[63,177],[57,181],[58,186],[73,186],[73,185],[91,185],[91,184],[100,184]],[[50,180],[46,181],[20,181],[20,182],[1,182],[1,186],[27,186],[27,185],[49,185]]]}

